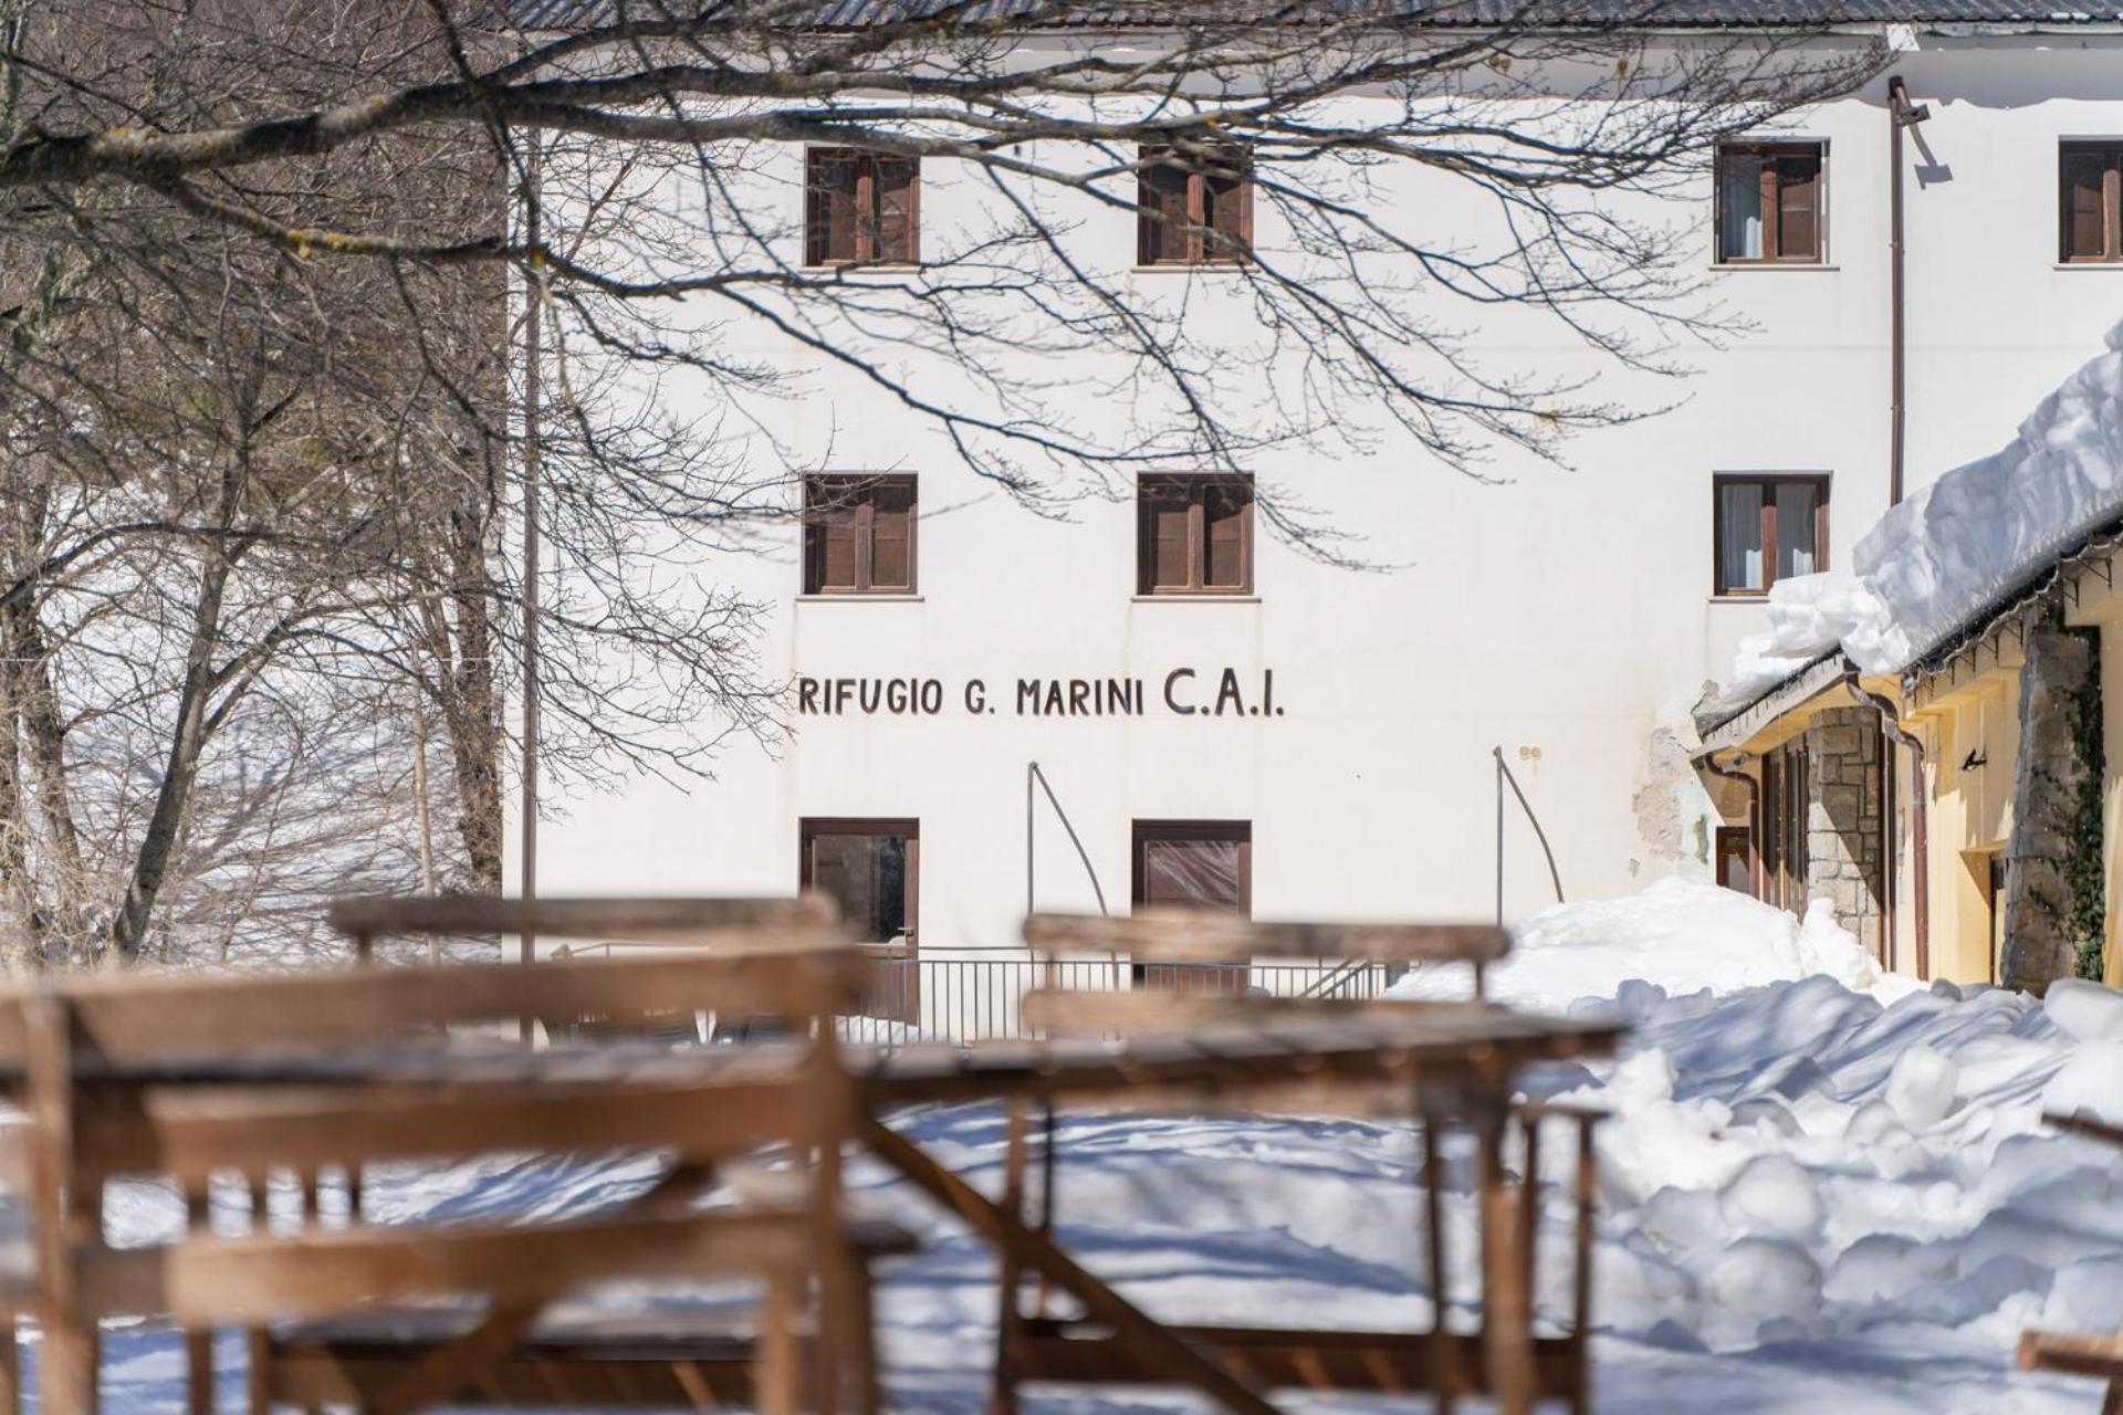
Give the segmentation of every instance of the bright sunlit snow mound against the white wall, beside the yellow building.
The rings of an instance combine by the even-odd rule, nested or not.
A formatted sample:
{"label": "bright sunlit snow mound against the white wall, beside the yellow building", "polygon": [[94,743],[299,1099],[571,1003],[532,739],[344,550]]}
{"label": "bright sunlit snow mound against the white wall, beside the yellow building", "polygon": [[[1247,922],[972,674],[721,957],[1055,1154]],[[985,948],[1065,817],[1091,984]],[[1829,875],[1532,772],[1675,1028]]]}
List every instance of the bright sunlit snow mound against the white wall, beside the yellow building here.
{"label": "bright sunlit snow mound against the white wall, beside the yellow building", "polygon": [[[1488,969],[1488,995],[1514,1008],[1560,1012],[1586,997],[1620,997],[1643,984],[1667,993],[1732,993],[1826,974],[1847,989],[1915,986],[1883,976],[1826,899],[1805,921],[1732,889],[1667,878],[1620,899],[1558,904],[1512,929],[1512,953]],[[1637,986],[1630,986],[1635,982]],[[1393,997],[1465,997],[1463,965],[1401,978]]]}

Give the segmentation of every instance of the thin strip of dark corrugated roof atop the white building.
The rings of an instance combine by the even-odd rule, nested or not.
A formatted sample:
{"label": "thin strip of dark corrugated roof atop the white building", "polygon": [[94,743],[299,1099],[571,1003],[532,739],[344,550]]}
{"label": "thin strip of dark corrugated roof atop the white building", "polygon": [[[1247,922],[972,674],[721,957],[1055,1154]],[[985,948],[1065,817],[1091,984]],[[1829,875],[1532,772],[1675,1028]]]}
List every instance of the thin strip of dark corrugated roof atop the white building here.
{"label": "thin strip of dark corrugated roof atop the white building", "polygon": [[[514,23],[531,30],[575,30],[611,23],[616,0],[503,0]],[[703,11],[715,8],[703,4]],[[953,8],[951,0],[819,0],[805,28],[860,30],[921,19]],[[960,11],[966,28],[994,28],[1045,13],[1047,0],[979,0]],[[631,19],[686,15],[686,0],[628,0]],[[1110,4],[1085,0],[1042,15],[1042,30],[1157,30],[1176,23],[1321,23],[1374,17],[1378,23],[1429,28],[1524,25],[1681,25],[1681,28],[1817,28],[1817,25],[2085,25],[2123,21],[2123,0],[1174,0]],[[790,23],[796,23],[794,19]]]}

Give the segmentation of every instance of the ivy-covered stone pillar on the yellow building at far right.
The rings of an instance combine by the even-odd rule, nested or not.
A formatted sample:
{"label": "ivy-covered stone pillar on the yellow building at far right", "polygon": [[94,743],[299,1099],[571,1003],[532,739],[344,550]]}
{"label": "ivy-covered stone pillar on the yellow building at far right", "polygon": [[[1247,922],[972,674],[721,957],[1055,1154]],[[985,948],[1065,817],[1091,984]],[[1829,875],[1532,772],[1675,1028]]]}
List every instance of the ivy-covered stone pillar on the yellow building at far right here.
{"label": "ivy-covered stone pillar on the yellow building at far right", "polygon": [[2025,632],[2000,974],[2006,986],[2040,993],[2076,972],[2089,942],[2100,957],[2102,880],[2087,870],[2102,849],[2100,658],[2095,636],[2064,628],[2049,607],[2027,611]]}

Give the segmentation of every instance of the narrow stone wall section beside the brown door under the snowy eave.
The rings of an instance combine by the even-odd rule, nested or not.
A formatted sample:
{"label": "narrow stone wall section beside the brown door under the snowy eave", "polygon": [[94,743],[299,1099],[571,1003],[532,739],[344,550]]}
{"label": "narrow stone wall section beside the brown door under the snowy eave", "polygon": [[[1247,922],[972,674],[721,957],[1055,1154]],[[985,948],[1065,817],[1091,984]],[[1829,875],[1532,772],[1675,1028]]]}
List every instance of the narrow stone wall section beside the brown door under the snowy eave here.
{"label": "narrow stone wall section beside the brown door under the snowy eave", "polygon": [[1881,728],[1868,706],[1828,709],[1807,723],[1807,891],[1879,955],[1885,927]]}

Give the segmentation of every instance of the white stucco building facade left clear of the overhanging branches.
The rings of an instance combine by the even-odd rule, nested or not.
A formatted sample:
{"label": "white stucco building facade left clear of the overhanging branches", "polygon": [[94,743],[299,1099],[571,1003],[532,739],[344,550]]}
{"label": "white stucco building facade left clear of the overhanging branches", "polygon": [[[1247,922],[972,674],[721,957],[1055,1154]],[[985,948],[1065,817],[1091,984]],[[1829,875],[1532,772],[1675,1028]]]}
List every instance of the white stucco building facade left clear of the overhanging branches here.
{"label": "white stucco building facade left clear of the overhanging branches", "polygon": [[[2117,214],[2087,208],[2070,225],[2072,180],[2115,202],[2102,163],[2117,149],[2102,144],[2123,144],[2123,30],[1962,8],[1892,32],[1892,72],[1930,110],[1902,144],[1909,486],[2004,441],[2123,318]],[[817,473],[856,477],[836,486],[870,490],[853,492],[862,505],[830,552],[807,556],[790,526],[720,571],[773,602],[760,651],[792,685],[792,736],[777,751],[730,745],[715,779],[688,789],[641,776],[550,798],[539,891],[815,880],[924,950],[1008,944],[1028,868],[1036,906],[1098,908],[1045,796],[1028,859],[1036,762],[1115,910],[1197,887],[1236,889],[1261,919],[1484,919],[1492,749],[1573,897],[1709,874],[1718,819],[1686,723],[1732,643],[1762,626],[1743,590],[1779,552],[1749,539],[1758,499],[1781,511],[1785,571],[1841,564],[1889,499],[1889,125],[1883,74],[1762,134],[1773,149],[1734,153],[1692,197],[1641,197],[1645,219],[1690,233],[1730,333],[1686,356],[1698,371],[1684,382],[1609,373],[1603,397],[1673,407],[1573,439],[1569,469],[1503,452],[1478,482],[1391,443],[1263,456],[1255,477],[1359,532],[1350,549],[1374,569],[1304,554],[1238,507],[1244,492],[1197,492],[1197,511],[1183,494],[1163,560],[1134,496],[1034,516],[966,473],[932,424],[813,369],[773,433]],[[1773,225],[1754,206],[1762,161],[1771,189],[1792,193]],[[1484,219],[1444,178],[1395,180],[1437,221]],[[983,199],[934,159],[919,182],[924,240]],[[802,202],[794,170],[762,191]],[[1076,240],[1119,267],[1138,255],[1125,214],[1087,210]],[[1267,210],[1253,240],[1280,240]],[[1783,259],[1745,259],[1764,240]],[[2074,240],[2108,259],[2066,259]],[[1250,308],[1221,272],[1136,278],[1185,282],[1244,344]],[[762,333],[758,348],[775,346]],[[1516,312],[1473,348],[1560,375],[1601,369],[1565,329]],[[1085,388],[1100,397],[1091,369]],[[1210,535],[1170,539],[1187,516]],[[1734,541],[1724,566],[1720,518]],[[1514,806],[1505,914],[1550,897]]]}

